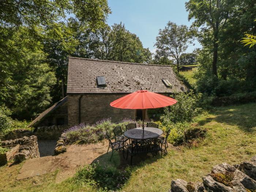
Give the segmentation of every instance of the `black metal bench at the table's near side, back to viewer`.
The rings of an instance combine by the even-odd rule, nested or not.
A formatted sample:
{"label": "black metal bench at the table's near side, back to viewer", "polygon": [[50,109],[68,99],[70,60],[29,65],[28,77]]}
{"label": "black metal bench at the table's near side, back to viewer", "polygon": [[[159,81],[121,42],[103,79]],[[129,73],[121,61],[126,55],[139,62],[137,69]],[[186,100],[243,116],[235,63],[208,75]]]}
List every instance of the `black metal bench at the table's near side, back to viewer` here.
{"label": "black metal bench at the table's near side, back to viewer", "polygon": [[162,143],[163,137],[158,138],[148,138],[148,139],[135,139],[132,140],[131,144],[127,144],[127,157],[128,154],[131,155],[131,165],[132,165],[132,157],[134,155],[143,154],[143,153],[156,153],[161,151],[162,156]]}

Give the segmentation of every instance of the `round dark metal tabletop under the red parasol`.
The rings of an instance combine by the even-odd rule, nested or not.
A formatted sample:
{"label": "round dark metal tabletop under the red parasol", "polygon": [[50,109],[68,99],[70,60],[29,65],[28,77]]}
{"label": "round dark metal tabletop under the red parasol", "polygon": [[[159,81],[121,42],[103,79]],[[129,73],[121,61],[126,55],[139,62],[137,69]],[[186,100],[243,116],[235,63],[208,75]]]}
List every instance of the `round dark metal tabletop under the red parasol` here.
{"label": "round dark metal tabletop under the red parasol", "polygon": [[124,136],[130,139],[147,139],[147,138],[156,138],[163,134],[163,131],[158,128],[153,127],[144,127],[144,134],[143,129],[135,128],[129,129],[128,131],[124,132]]}

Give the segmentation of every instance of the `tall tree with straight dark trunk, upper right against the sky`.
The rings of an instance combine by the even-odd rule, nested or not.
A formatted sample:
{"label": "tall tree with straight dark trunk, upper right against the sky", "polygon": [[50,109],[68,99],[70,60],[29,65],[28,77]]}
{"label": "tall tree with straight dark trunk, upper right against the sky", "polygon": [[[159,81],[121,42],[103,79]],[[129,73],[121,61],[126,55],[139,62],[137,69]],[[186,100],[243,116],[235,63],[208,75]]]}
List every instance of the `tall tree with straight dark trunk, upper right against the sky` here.
{"label": "tall tree with straight dark trunk, upper right against the sky", "polygon": [[212,42],[213,59],[212,74],[217,76],[218,41],[219,31],[225,27],[232,10],[232,0],[189,0],[185,3],[189,12],[188,19],[195,19],[193,26],[202,27],[202,30],[210,33]]}

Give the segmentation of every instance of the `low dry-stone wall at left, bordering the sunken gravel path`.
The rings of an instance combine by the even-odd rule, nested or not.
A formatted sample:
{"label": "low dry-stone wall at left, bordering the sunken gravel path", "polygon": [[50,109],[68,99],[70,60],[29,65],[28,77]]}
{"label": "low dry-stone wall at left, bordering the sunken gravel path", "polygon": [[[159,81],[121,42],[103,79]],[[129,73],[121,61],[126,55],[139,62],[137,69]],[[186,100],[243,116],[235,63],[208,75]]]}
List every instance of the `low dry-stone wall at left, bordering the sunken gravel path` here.
{"label": "low dry-stone wall at left, bordering the sunken gravel path", "polygon": [[1,142],[1,146],[17,145],[20,144],[18,152],[14,156],[15,162],[21,162],[27,158],[40,157],[38,150],[37,137],[32,135],[30,137],[24,136],[23,138],[6,140]]}

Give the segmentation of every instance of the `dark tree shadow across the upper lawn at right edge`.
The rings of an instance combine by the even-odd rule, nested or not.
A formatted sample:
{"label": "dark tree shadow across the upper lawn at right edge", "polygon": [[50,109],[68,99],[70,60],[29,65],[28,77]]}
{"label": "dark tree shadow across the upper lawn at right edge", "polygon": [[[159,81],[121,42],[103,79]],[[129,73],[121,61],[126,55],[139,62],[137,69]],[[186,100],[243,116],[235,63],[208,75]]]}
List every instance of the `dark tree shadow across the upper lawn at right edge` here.
{"label": "dark tree shadow across the upper lawn at right edge", "polygon": [[219,107],[210,114],[214,117],[199,120],[197,124],[202,126],[210,121],[216,121],[236,125],[245,132],[256,132],[256,103]]}

